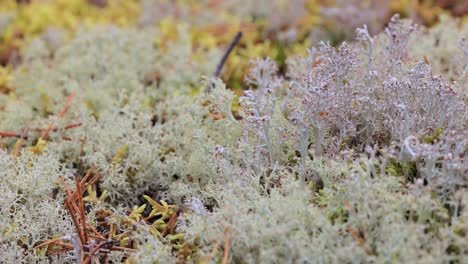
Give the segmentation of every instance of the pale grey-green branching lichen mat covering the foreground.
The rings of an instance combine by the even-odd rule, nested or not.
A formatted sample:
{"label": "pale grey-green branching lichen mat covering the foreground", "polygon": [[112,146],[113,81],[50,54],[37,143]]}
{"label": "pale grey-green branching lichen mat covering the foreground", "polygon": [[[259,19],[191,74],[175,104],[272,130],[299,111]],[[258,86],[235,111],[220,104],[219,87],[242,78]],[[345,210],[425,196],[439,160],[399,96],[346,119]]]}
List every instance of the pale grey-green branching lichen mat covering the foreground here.
{"label": "pale grey-green branching lichen mat covering the foreground", "polygon": [[[82,32],[57,50],[36,40],[15,71],[21,100],[0,96],[0,130],[46,127],[71,92],[56,124],[82,125],[51,133],[39,155],[0,152],[1,258],[48,262],[32,248],[74,234],[58,178],[73,186],[94,167],[121,214],[143,194],[185,203],[177,230],[199,249],[193,261],[228,228],[232,263],[462,263],[467,31],[454,23],[419,33],[395,16],[379,35],[363,27],[354,42],[289,58],[285,76],[254,60],[234,113],[234,92],[202,78],[219,51],[195,60],[188,37],[164,52],[132,29]],[[133,261],[177,261],[167,241],[136,227]]]}

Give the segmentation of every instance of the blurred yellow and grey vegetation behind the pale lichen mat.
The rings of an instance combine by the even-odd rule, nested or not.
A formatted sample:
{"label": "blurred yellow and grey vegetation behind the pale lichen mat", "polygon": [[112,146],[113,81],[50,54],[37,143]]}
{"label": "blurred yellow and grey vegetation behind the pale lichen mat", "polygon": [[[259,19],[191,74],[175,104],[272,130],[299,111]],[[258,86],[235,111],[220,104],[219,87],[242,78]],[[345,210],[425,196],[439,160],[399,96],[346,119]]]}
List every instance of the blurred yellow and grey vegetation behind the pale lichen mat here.
{"label": "blurred yellow and grey vegetation behind the pale lichen mat", "polygon": [[[0,3],[0,91],[8,91],[9,72],[21,63],[21,50],[37,36],[52,49],[84,29],[111,24],[156,28],[154,44],[164,47],[188,27],[194,50],[226,46],[244,37],[223,72],[228,86],[242,85],[250,59],[270,56],[284,70],[285,58],[303,54],[315,41],[336,44],[367,24],[371,33],[393,13],[432,26],[441,14],[467,21],[463,0],[3,0]],[[197,54],[194,54],[197,56]]]}

